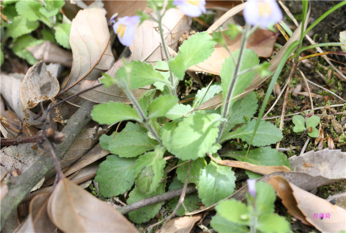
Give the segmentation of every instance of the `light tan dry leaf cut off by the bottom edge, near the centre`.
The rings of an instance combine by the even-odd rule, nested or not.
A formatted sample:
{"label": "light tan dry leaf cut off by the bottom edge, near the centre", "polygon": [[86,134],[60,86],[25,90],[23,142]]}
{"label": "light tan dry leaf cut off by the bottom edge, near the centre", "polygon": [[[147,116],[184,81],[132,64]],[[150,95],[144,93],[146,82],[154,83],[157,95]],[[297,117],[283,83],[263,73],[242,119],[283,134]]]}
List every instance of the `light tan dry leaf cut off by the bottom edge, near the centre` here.
{"label": "light tan dry leaf cut off by the bottom edge, near the centre", "polygon": [[195,223],[202,218],[202,215],[194,215],[194,216],[183,216],[173,218],[167,222],[165,222],[161,228],[157,231],[157,233],[171,232],[171,233],[179,233],[179,232],[191,232]]}

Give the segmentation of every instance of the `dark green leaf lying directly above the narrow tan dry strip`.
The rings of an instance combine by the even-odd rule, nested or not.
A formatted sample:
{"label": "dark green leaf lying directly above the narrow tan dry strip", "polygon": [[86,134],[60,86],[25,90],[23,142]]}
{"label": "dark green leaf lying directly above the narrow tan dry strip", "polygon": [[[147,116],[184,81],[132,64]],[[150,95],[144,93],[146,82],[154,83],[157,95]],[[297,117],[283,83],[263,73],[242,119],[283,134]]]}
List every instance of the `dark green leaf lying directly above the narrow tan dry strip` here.
{"label": "dark green leaf lying directly above the narrow tan dry strip", "polygon": [[[263,166],[287,166],[290,167],[289,161],[286,155],[282,152],[277,151],[276,149],[272,149],[269,146],[260,147],[254,150],[250,150],[249,154],[246,158],[246,151],[229,151],[220,156],[232,157],[239,161],[249,162],[256,165]],[[245,171],[250,179],[257,179],[261,175],[254,173],[252,171]]]}

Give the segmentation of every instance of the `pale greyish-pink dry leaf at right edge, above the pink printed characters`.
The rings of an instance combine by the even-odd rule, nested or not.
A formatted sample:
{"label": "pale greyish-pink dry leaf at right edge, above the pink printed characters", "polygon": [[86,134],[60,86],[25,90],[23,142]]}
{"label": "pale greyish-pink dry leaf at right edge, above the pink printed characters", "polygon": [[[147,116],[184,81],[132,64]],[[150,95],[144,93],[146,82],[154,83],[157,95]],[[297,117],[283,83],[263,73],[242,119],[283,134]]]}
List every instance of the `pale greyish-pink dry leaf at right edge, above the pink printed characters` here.
{"label": "pale greyish-pink dry leaf at right edge, above the pink printed characters", "polygon": [[[341,152],[341,150],[309,151],[300,156],[290,157],[289,162],[294,171],[312,176],[323,176],[328,179],[346,178],[346,152]],[[304,163],[313,166],[304,166]]]}

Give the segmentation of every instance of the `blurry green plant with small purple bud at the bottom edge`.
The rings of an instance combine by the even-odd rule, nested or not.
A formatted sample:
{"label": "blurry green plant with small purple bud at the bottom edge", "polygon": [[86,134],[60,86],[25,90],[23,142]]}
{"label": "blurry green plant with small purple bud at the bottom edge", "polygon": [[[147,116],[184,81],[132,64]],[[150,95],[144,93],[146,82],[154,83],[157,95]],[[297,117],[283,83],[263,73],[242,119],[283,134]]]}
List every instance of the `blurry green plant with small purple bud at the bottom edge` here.
{"label": "blurry green plant with small purple bud at the bottom edge", "polygon": [[247,204],[229,199],[215,207],[217,213],[210,222],[213,228],[218,232],[249,232],[249,228],[250,232],[290,232],[285,217],[273,213],[276,195],[272,186],[259,181],[251,191],[251,181],[248,185]]}

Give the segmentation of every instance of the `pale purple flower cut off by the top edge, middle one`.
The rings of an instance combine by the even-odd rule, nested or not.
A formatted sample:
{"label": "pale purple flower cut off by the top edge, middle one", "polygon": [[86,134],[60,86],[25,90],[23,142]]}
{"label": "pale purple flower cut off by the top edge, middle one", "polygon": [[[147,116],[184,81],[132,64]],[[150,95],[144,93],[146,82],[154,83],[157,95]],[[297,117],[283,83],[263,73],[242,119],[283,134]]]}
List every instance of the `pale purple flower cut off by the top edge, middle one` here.
{"label": "pale purple flower cut off by the top edge, middle one", "polygon": [[182,12],[190,17],[199,17],[206,13],[205,0],[174,0],[173,4],[179,6]]}

